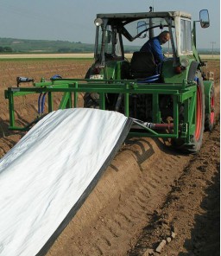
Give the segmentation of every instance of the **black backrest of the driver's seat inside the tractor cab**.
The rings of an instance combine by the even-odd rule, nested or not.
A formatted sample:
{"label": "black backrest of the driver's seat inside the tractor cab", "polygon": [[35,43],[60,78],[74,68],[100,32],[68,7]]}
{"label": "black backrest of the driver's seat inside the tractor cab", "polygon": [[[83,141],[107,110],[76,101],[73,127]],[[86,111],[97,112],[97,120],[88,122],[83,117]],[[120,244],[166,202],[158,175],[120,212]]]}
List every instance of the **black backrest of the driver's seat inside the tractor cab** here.
{"label": "black backrest of the driver's seat inside the tractor cab", "polygon": [[156,74],[157,65],[150,52],[135,52],[131,59],[131,75],[135,79],[144,79]]}

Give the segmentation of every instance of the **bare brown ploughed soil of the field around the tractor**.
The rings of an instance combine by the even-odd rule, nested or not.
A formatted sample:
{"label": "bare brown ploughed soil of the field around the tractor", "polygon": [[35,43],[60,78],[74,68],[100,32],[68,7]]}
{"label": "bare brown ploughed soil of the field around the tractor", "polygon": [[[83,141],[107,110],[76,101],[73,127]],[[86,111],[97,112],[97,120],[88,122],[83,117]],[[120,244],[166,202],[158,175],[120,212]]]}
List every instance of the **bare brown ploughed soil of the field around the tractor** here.
{"label": "bare brown ploughed soil of the field around the tractor", "polygon": [[[16,86],[17,76],[82,78],[91,62],[0,61],[0,157],[25,133],[7,128],[3,90]],[[160,139],[127,140],[47,256],[220,254],[219,68],[219,61],[208,62],[215,74],[216,125],[204,133],[199,153],[180,154]],[[54,101],[58,106],[59,95]],[[18,125],[36,117],[35,95],[15,105]]]}

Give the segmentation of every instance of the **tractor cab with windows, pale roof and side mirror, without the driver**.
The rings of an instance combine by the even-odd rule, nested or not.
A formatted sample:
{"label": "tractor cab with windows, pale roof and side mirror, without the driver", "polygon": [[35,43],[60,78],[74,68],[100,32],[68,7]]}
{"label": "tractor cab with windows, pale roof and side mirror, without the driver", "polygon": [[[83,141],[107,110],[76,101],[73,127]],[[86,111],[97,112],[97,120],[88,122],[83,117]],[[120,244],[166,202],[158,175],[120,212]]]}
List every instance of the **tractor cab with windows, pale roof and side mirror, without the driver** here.
{"label": "tractor cab with windows, pale roof and side mirror, without the driver", "polygon": [[[200,12],[200,22],[203,28],[209,26],[207,10]],[[195,31],[191,15],[186,12],[98,14],[94,23],[95,62],[88,78],[123,80],[158,74],[161,82],[171,82],[174,78],[181,82],[193,76],[191,66],[199,65]],[[164,30],[169,32],[170,41],[162,45],[167,59],[159,68],[155,67],[153,55],[139,51],[145,42]],[[131,61],[131,57],[127,58],[129,54]],[[197,63],[191,64],[193,61]]]}

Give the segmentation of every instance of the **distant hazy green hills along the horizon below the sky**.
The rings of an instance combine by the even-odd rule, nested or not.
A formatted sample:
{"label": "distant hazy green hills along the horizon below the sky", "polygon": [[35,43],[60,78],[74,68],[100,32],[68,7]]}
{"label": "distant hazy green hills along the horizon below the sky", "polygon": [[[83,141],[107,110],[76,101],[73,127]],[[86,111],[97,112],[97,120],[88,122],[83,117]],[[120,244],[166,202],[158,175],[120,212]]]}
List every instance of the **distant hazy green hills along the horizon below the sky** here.
{"label": "distant hazy green hills along the horizon below the sky", "polygon": [[[140,46],[125,46],[125,53],[139,50]],[[0,38],[0,53],[92,53],[94,44],[83,42]],[[212,54],[212,49],[199,49],[199,54]],[[214,49],[213,54],[219,54]]]}

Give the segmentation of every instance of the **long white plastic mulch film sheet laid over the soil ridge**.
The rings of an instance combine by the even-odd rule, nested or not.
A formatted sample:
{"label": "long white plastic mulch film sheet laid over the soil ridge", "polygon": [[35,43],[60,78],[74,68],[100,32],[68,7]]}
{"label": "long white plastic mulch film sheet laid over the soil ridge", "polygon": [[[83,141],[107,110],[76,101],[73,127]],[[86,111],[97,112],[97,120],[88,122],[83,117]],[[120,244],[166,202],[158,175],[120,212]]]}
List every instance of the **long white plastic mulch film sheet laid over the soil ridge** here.
{"label": "long white plastic mulch film sheet laid over the soil ridge", "polygon": [[1,256],[41,251],[129,131],[128,124],[118,112],[59,110],[9,150],[0,161]]}

